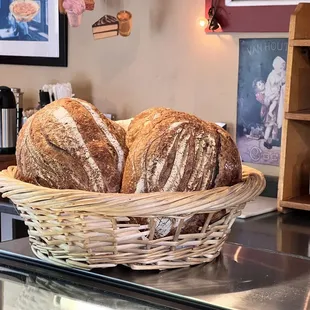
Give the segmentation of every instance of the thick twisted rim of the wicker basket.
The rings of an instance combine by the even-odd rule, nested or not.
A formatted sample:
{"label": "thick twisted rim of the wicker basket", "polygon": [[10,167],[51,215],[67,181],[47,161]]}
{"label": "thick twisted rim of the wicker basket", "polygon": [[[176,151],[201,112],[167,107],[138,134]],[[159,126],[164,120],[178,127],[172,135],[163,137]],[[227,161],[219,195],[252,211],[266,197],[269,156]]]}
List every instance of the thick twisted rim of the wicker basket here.
{"label": "thick twisted rim of the wicker basket", "polygon": [[[230,187],[217,187],[196,192],[154,192],[154,193],[98,193],[76,189],[53,189],[26,183],[15,179],[16,166],[0,172],[0,192],[19,206],[31,204],[34,208],[54,209],[80,207],[87,212],[88,206],[98,205],[106,216],[178,216],[184,214],[216,212],[225,207],[245,204],[258,196],[265,188],[263,174],[243,166],[242,182]],[[53,201],[55,206],[53,206]],[[186,207],[186,202],[191,207]],[[203,203],[202,203],[203,201]],[[104,207],[102,203],[104,202]],[[193,203],[194,202],[194,203]],[[145,207],[148,205],[148,207]],[[169,208],[163,206],[169,205]]]}

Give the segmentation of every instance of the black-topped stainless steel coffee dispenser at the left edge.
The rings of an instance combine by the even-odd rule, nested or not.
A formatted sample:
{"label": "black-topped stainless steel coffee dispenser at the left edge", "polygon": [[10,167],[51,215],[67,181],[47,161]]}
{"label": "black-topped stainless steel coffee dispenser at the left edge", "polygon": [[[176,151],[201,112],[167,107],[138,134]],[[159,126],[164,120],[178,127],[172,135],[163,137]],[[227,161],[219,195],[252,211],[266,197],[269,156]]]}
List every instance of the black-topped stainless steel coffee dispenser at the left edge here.
{"label": "black-topped stainless steel coffee dispenser at the left edge", "polygon": [[15,154],[17,139],[16,100],[11,88],[0,86],[0,154]]}

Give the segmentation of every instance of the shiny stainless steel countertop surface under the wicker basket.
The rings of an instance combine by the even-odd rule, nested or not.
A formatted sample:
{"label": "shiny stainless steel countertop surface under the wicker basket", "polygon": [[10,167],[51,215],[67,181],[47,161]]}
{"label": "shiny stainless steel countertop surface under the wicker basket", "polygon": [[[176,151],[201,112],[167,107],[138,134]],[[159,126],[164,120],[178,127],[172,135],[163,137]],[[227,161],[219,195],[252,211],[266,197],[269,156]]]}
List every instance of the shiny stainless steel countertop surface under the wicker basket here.
{"label": "shiny stainless steel countertop surface under the wicker basket", "polygon": [[[36,261],[28,240],[0,244],[0,254],[12,251]],[[95,277],[119,279],[184,300],[236,310],[310,310],[310,260],[271,251],[225,244],[211,264],[162,272],[126,267],[95,270]]]}

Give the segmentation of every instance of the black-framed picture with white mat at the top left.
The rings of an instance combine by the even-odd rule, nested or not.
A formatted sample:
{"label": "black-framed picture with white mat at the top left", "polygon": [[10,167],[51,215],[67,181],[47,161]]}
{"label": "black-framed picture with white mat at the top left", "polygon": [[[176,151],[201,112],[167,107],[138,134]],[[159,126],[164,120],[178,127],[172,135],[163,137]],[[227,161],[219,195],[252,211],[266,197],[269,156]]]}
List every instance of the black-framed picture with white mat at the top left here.
{"label": "black-framed picture with white mat at the top left", "polygon": [[0,64],[68,65],[68,23],[58,0],[0,0]]}

